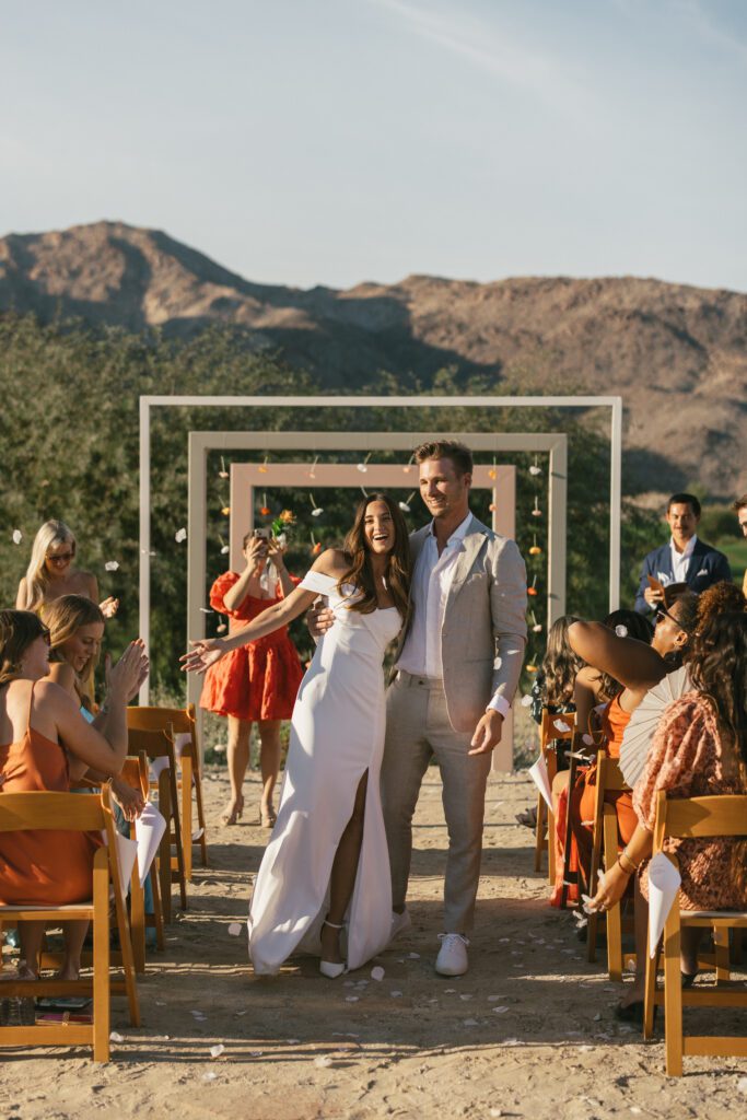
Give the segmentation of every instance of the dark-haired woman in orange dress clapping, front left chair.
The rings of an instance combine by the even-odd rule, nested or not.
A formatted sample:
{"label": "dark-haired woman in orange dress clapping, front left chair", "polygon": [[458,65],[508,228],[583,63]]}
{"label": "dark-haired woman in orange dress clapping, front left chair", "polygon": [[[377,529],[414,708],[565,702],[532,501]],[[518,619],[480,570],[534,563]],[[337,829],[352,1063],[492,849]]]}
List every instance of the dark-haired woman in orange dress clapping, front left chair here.
{"label": "dark-haired woman in orange dress clapping, front left chair", "polygon": [[[133,643],[110,673],[105,734],[81,717],[80,704],[53,681],[49,633],[28,610],[0,612],[0,797],[4,793],[67,792],[68,756],[119,774],[127,756],[125,706],[142,676]],[[0,833],[0,904],[66,905],[91,898],[97,836],[66,831]],[[77,977],[86,922],[65,928],[60,979]],[[44,923],[21,923],[21,977],[38,973]]]}

